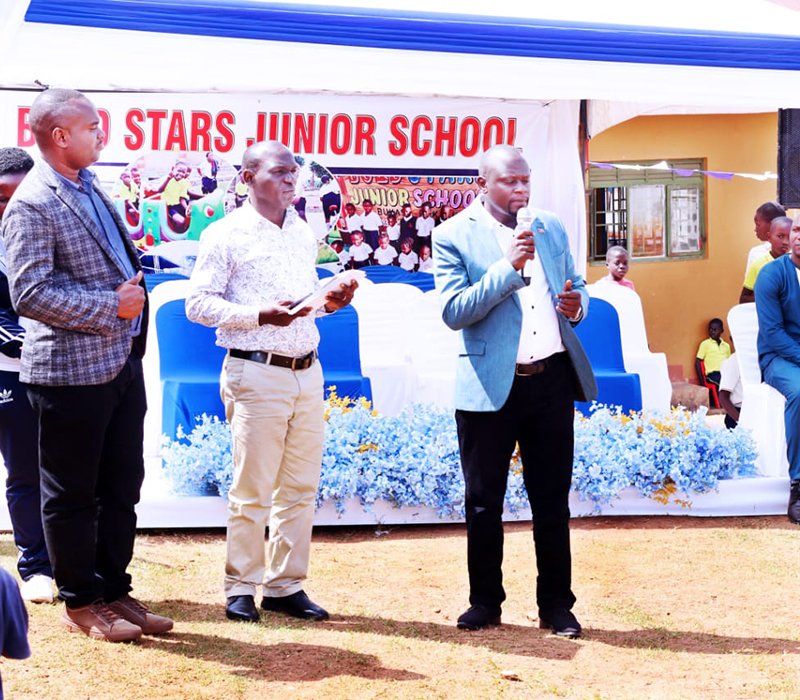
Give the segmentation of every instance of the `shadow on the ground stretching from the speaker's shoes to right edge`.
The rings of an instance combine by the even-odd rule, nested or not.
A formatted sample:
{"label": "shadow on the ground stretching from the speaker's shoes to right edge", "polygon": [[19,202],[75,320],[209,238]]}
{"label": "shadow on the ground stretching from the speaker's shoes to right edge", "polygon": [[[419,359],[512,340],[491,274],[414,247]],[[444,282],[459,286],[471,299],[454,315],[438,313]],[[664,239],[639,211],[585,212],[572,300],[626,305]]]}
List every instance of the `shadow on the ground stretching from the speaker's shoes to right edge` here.
{"label": "shadow on the ground stretching from the speaker's shoes to right edge", "polygon": [[687,654],[800,654],[800,642],[777,637],[725,637],[664,628],[644,630],[585,629],[587,639],[623,649],[659,649]]}

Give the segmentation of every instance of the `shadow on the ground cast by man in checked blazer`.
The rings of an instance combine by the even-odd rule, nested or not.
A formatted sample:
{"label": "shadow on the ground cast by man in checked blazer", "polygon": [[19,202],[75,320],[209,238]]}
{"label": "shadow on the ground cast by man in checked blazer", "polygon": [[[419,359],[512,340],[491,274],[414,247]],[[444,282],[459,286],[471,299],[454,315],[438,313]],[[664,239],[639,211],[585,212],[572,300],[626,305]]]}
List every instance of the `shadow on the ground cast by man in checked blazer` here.
{"label": "shadow on the ground cast by man in checked blazer", "polygon": [[141,646],[220,664],[232,675],[259,681],[318,681],[335,676],[384,681],[424,678],[404,669],[386,668],[372,654],[317,644],[252,644],[217,635],[173,631],[164,637],[144,637]]}

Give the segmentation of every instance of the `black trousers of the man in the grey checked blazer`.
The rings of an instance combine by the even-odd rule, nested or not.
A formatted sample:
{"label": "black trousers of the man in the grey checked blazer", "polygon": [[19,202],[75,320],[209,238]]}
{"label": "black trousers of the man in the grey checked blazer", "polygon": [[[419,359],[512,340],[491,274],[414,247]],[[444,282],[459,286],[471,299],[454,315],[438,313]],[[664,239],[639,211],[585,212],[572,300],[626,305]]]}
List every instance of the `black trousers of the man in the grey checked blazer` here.
{"label": "black trousers of the man in the grey checked blazer", "polygon": [[144,479],[142,361],[107,384],[28,385],[39,416],[42,516],[59,597],[68,607],[131,590],[127,573]]}

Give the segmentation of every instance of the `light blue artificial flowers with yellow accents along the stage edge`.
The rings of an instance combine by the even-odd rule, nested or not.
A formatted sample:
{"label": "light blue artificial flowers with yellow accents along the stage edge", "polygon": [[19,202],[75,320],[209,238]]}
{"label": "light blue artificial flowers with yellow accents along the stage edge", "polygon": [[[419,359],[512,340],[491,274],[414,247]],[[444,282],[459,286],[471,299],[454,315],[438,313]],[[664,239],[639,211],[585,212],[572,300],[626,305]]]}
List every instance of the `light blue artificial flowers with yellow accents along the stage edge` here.
{"label": "light blue artificial flowers with yellow accents along the stage edge", "polygon": [[[596,509],[628,487],[664,503],[676,494],[704,493],[721,479],[754,476],[755,444],[740,428],[716,429],[706,411],[631,412],[595,404],[575,415],[572,487]],[[326,399],[327,421],[317,507],[332,501],[343,513],[358,498],[366,511],[378,500],[397,507],[428,506],[440,517],[464,514],[464,479],[452,411],[416,405],[381,416],[368,401]],[[188,435],[164,438],[163,464],[174,493],[227,496],[233,478],[226,421],[203,415]],[[512,458],[506,506],[527,508],[518,456]]]}

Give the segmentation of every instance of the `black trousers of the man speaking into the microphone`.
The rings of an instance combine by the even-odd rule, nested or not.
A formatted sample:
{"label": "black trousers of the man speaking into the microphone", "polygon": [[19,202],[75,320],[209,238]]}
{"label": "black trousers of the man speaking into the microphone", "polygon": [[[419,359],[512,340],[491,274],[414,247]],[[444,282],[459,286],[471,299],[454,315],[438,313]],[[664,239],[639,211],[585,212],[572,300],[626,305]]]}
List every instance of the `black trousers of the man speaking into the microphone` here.
{"label": "black trousers of the man speaking into the microphone", "polygon": [[572,560],[569,489],[572,481],[575,379],[566,353],[544,372],[514,377],[499,411],[456,411],[466,482],[470,604],[499,608],[503,590],[503,499],[511,455],[519,443],[533,515],[540,610],[570,609]]}

